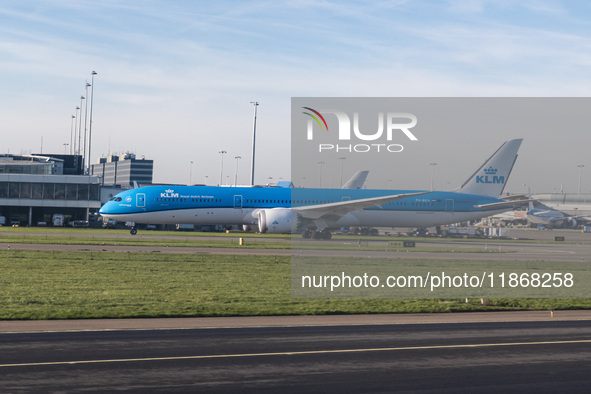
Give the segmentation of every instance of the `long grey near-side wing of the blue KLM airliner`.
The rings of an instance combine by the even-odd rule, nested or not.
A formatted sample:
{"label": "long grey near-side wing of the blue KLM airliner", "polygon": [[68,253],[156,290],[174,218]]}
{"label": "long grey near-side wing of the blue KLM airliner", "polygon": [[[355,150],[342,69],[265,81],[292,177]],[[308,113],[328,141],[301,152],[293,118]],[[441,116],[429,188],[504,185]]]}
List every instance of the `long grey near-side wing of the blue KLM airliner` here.
{"label": "long grey near-side wing of the blue KLM airliner", "polygon": [[419,193],[394,194],[383,197],[364,198],[360,200],[348,200],[334,202],[330,204],[306,205],[303,207],[292,208],[293,211],[300,214],[304,220],[322,221],[323,224],[336,222],[349,212],[359,211],[365,208],[378,207],[388,201],[400,200],[408,197],[422,196],[431,193],[430,191]]}

